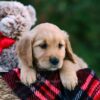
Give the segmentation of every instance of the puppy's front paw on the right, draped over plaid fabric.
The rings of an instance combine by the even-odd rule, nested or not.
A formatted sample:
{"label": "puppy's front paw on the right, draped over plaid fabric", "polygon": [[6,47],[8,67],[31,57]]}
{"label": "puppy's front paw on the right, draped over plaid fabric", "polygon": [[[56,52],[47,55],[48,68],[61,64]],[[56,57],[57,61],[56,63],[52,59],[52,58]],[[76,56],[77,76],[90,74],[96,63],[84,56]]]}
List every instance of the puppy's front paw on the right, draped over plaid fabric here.
{"label": "puppy's front paw on the right, draped over plaid fabric", "polygon": [[67,88],[68,90],[74,90],[76,85],[78,84],[78,78],[76,76],[76,73],[60,73],[60,78],[62,85]]}

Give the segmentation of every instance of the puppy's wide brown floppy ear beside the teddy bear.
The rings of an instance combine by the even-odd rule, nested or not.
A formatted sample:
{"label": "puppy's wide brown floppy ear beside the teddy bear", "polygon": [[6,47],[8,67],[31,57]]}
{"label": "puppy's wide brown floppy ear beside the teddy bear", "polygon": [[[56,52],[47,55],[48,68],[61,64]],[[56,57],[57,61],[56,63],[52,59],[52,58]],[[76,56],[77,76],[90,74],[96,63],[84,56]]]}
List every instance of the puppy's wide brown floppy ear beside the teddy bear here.
{"label": "puppy's wide brown floppy ear beside the teddy bear", "polygon": [[17,55],[23,65],[32,67],[32,41],[30,36],[22,37],[17,43]]}

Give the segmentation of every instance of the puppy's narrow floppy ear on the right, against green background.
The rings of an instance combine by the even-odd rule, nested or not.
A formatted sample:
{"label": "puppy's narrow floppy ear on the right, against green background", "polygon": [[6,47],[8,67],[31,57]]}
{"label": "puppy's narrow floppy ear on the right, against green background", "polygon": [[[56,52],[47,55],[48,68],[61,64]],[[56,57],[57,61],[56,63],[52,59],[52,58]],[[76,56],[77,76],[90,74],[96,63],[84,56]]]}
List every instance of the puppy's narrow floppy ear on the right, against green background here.
{"label": "puppy's narrow floppy ear on the right, against green background", "polygon": [[73,63],[76,63],[74,53],[72,51],[71,44],[69,41],[68,33],[65,31],[62,31],[62,32],[64,34],[65,45],[66,45],[66,57],[65,58],[69,58]]}

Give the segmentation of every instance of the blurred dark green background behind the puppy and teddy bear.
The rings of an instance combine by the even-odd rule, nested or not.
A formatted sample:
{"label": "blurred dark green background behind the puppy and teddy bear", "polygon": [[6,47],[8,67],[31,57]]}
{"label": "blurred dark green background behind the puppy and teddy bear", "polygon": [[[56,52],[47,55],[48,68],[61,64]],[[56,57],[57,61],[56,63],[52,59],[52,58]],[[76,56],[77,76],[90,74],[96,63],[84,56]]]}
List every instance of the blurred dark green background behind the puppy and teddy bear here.
{"label": "blurred dark green background behind the puppy and teddy bear", "polygon": [[51,22],[66,30],[74,52],[100,76],[100,0],[17,0],[31,4],[37,24]]}

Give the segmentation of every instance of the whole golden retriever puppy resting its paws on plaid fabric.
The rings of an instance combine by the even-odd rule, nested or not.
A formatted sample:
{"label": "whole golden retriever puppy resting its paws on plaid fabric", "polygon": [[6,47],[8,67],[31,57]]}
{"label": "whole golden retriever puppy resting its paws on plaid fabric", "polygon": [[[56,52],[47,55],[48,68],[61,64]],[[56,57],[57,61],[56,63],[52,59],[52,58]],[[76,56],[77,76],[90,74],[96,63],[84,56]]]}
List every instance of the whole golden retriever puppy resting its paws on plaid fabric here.
{"label": "whole golden retriever puppy resting its paws on plaid fabric", "polygon": [[73,53],[68,34],[50,23],[39,24],[22,37],[17,44],[17,54],[21,81],[28,85],[36,81],[37,70],[59,69],[63,86],[72,90],[78,83],[76,71],[87,67]]}

